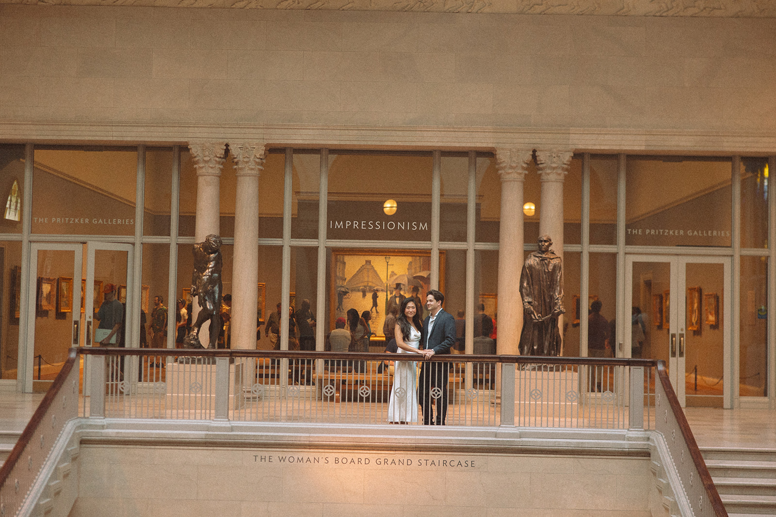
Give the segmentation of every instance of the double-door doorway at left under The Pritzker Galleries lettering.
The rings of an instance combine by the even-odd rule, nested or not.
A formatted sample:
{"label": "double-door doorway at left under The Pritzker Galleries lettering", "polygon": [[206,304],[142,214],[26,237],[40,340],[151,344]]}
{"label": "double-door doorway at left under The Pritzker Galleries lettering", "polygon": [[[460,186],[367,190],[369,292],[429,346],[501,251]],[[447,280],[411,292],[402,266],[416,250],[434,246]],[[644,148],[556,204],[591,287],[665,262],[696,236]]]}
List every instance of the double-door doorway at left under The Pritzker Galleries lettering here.
{"label": "double-door doorway at left under The Pritzker Galleries lettering", "polygon": [[[95,313],[107,284],[131,317],[133,246],[117,243],[30,243],[24,390],[50,388],[71,346],[92,346]],[[87,287],[89,286],[89,287]],[[120,331],[120,346],[124,343]],[[81,374],[88,374],[81,364]]]}

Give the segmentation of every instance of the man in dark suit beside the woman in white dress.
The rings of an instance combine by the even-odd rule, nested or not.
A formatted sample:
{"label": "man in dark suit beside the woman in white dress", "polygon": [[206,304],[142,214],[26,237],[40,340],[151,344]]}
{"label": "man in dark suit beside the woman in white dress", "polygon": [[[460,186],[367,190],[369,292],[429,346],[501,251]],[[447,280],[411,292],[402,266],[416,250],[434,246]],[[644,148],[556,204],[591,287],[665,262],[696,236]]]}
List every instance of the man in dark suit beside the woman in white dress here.
{"label": "man in dark suit beside the woman in white dress", "polygon": [[[426,295],[428,316],[421,330],[421,350],[425,359],[438,354],[450,353],[450,347],[456,343],[456,319],[442,308],[445,295],[431,289]],[[447,415],[447,381],[450,364],[447,361],[424,362],[417,386],[417,398],[423,410],[423,423],[426,425],[445,425]],[[436,389],[435,389],[436,388]],[[440,391],[440,393],[436,393]],[[434,416],[436,402],[436,417]]]}

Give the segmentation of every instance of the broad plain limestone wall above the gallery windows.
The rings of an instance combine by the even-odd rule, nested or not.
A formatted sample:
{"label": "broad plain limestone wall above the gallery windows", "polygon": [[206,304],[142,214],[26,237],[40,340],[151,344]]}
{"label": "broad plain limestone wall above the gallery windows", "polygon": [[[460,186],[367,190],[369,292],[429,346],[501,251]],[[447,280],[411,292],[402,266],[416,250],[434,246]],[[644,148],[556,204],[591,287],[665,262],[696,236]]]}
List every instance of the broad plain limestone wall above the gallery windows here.
{"label": "broad plain limestone wall above the gallery windows", "polygon": [[[772,18],[2,5],[0,29],[2,140],[487,146],[525,131],[723,150],[776,134]],[[656,131],[691,136],[641,136]]]}

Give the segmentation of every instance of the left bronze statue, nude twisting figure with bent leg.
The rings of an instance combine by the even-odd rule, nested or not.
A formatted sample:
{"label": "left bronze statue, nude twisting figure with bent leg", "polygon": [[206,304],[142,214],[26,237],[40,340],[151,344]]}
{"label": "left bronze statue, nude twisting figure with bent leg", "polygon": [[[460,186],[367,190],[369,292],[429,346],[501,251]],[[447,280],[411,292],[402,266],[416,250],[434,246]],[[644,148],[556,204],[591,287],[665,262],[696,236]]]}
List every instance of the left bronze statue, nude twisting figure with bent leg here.
{"label": "left bronze statue, nude twisting figure with bent leg", "polygon": [[205,237],[205,242],[194,244],[194,272],[192,274],[192,298],[197,297],[199,303],[199,315],[192,326],[191,332],[186,336],[185,346],[189,348],[202,348],[199,341],[199,329],[203,323],[210,321],[210,343],[208,348],[215,348],[218,334],[221,330],[221,238],[210,234]]}

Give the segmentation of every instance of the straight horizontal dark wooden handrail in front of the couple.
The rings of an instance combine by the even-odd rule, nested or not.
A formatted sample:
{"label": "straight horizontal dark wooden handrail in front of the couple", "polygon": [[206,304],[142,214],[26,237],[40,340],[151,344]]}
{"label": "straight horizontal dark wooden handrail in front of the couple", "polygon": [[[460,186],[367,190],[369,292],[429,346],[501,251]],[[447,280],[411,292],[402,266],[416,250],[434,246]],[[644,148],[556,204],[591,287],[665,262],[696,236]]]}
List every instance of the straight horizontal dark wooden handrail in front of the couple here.
{"label": "straight horizontal dark wooden handrail in front of the couple", "polygon": [[[178,356],[178,357],[266,357],[271,359],[327,359],[327,360],[419,360],[414,354],[383,352],[317,352],[306,350],[230,350],[227,348],[192,350],[187,348],[121,348],[117,346],[82,346],[78,353],[100,356]],[[587,366],[654,367],[654,359],[625,357],[544,357],[511,355],[473,355],[445,353],[431,357],[431,361],[505,364],[583,364]]]}

